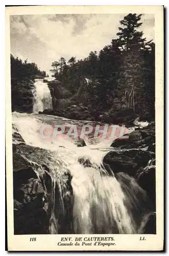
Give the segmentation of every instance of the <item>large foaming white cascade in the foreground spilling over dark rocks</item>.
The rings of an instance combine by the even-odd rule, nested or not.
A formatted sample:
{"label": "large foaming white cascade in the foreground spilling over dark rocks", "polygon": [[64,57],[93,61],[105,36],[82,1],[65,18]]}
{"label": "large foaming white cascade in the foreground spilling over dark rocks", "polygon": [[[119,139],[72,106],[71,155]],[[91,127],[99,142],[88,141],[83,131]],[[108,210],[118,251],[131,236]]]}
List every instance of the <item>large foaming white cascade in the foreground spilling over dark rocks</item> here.
{"label": "large foaming white cascade in the foreground spilling over dark rocks", "polygon": [[[38,81],[37,88],[40,84],[42,82]],[[13,113],[14,127],[25,143],[46,150],[41,161],[46,158],[50,170],[48,175],[51,178],[49,232],[59,232],[59,218],[65,215],[63,195],[70,192],[67,183],[71,176],[73,200],[69,200],[68,204],[73,208],[73,231],[70,232],[141,233],[140,227],[144,226],[143,221],[149,212],[144,207],[146,193],[134,178],[122,173],[114,175],[112,172],[111,176],[108,175],[102,165],[102,159],[107,152],[98,147],[77,147],[73,141],[65,138],[60,138],[59,141],[43,141],[38,133],[42,122],[48,123],[45,115],[42,119],[41,115]],[[30,161],[43,181],[44,173],[40,175],[39,167],[34,164],[34,159],[40,157],[36,151],[33,153],[34,158],[29,154],[25,154],[24,158]],[[79,158],[88,159],[91,167],[80,164]]]}

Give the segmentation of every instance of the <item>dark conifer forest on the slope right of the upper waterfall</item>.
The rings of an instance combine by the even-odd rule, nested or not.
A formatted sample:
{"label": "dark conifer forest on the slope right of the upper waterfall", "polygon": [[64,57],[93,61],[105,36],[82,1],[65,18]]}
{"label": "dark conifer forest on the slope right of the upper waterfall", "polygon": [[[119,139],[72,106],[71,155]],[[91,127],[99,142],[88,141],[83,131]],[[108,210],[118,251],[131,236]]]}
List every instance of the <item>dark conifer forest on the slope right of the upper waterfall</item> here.
{"label": "dark conifer forest on the slope right of the upper waterfall", "polygon": [[84,59],[61,56],[52,62],[52,76],[75,94],[80,81],[89,79],[87,105],[97,111],[132,109],[154,119],[155,44],[140,31],[142,14],[129,13],[120,20],[117,38]]}

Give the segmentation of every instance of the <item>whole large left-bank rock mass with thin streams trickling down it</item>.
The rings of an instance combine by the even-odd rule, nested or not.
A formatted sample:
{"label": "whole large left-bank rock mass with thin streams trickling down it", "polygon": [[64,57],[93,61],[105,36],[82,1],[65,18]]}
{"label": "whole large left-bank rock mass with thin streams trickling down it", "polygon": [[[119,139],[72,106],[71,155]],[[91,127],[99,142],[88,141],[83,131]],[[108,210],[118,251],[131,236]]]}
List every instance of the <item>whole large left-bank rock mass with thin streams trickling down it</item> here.
{"label": "whole large left-bank rock mass with thin streams trickling down it", "polygon": [[[71,232],[72,188],[67,166],[56,158],[55,152],[26,145],[14,133],[14,142],[16,138],[20,143],[13,144],[14,233]],[[58,185],[60,168],[65,170],[66,190]],[[54,216],[51,215],[53,205]]]}

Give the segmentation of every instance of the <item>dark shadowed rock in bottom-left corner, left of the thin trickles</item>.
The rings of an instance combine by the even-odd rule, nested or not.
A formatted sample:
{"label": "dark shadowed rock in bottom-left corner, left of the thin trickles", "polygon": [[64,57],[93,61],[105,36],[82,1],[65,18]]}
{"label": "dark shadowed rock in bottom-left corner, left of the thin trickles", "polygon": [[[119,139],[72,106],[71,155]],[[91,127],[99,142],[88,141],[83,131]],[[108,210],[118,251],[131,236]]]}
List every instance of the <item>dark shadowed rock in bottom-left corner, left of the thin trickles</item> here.
{"label": "dark shadowed rock in bottom-left corner, left of the thin trickles", "polygon": [[[22,144],[16,147],[25,146]],[[16,151],[15,147],[15,151]],[[33,167],[19,153],[13,153],[14,233],[48,233],[43,209],[43,187]]]}

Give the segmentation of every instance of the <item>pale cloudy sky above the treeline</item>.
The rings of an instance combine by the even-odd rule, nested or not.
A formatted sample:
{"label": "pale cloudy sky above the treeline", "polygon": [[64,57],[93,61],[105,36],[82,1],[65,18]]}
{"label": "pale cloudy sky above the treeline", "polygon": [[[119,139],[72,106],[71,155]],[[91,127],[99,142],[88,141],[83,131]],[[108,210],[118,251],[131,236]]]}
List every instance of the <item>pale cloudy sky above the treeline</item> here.
{"label": "pale cloudy sky above the treeline", "polygon": [[[125,14],[11,15],[11,53],[36,62],[49,75],[51,63],[61,56],[85,58],[110,44]],[[140,30],[154,40],[154,15],[144,14]]]}

